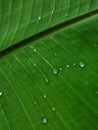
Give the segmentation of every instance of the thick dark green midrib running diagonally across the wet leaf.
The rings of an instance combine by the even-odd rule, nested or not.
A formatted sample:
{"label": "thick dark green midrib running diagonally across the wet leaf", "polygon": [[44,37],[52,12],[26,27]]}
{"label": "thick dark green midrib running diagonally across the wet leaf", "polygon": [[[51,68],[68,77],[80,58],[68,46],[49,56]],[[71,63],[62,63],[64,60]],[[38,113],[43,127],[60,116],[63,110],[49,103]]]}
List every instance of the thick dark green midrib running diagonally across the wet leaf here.
{"label": "thick dark green midrib running diagonally across the wet leaf", "polygon": [[77,24],[78,22],[89,19],[92,16],[97,15],[97,14],[98,14],[98,9],[90,11],[90,12],[85,13],[85,14],[82,14],[82,15],[80,15],[78,17],[73,18],[73,19],[64,21],[64,22],[62,22],[60,24],[57,24],[57,25],[55,25],[53,27],[50,27],[50,28],[48,28],[46,30],[43,30],[43,31],[41,31],[41,32],[39,32],[39,33],[37,33],[35,35],[32,35],[32,36],[30,36],[30,37],[28,37],[28,38],[26,38],[26,39],[24,39],[22,41],[19,41],[16,44],[14,44],[14,45],[0,51],[0,58],[3,58],[5,56],[9,55],[10,53],[13,53],[14,51],[16,51],[16,50],[30,44],[31,42],[37,41],[37,40],[39,40],[41,38],[44,38],[44,37],[48,36],[49,34],[58,32],[59,30],[61,30],[63,28],[65,29],[65,28],[67,28],[69,26],[72,26],[73,24]]}

